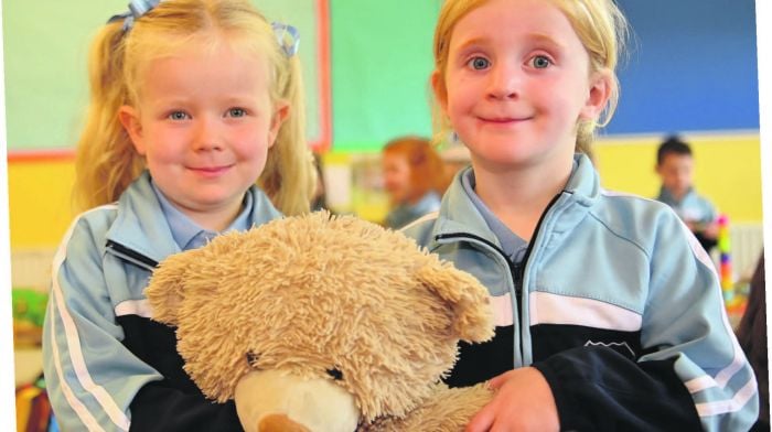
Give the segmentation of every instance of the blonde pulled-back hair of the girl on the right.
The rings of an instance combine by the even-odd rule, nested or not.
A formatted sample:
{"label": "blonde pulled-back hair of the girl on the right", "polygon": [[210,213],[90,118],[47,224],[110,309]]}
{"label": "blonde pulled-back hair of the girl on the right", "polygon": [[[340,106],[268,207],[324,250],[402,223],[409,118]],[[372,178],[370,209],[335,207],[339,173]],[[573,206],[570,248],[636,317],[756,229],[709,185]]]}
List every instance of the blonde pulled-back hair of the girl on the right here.
{"label": "blonde pulled-back hair of the girl on the right", "polygon": [[[624,51],[628,39],[628,22],[613,0],[549,0],[571,23],[582,45],[590,56],[590,73],[607,69],[611,72],[613,85],[611,97],[602,115],[602,120],[582,121],[577,125],[576,149],[589,152],[594,129],[605,126],[613,117],[619,101],[619,82],[614,73],[619,53]],[[485,4],[487,0],[447,0],[440,10],[435,30],[435,73],[438,76],[437,91],[447,94],[444,75],[448,67],[448,50],[455,24],[469,12]],[[451,125],[437,100],[432,102],[433,140],[447,140]]]}

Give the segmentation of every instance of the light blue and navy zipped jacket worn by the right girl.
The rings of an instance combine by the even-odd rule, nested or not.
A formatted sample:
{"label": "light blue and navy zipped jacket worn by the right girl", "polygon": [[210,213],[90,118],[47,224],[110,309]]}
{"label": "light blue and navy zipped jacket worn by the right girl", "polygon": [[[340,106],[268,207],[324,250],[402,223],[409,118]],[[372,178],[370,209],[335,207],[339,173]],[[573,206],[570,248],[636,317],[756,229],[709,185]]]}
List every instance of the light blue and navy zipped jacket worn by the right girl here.
{"label": "light blue and navy zipped jacket worn by the right girl", "polygon": [[460,175],[439,214],[405,229],[491,294],[495,337],[462,344],[449,384],[530,365],[549,382],[561,430],[748,430],[757,384],[709,257],[666,205],[607,192],[587,156],[577,162],[522,266]]}

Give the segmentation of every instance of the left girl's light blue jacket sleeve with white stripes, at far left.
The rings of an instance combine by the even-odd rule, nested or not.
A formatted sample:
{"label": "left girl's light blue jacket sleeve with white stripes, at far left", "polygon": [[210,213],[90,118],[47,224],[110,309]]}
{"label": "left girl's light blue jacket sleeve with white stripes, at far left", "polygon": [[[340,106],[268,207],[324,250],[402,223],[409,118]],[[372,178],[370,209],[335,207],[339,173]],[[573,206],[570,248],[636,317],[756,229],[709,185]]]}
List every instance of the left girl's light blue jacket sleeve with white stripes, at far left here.
{"label": "left girl's light blue jacket sleeve with white stripes, at far left", "polygon": [[163,376],[122,344],[108,292],[115,274],[106,276],[101,245],[104,238],[79,219],[54,258],[43,357],[60,429],[240,430],[233,403],[216,404],[164,387]]}

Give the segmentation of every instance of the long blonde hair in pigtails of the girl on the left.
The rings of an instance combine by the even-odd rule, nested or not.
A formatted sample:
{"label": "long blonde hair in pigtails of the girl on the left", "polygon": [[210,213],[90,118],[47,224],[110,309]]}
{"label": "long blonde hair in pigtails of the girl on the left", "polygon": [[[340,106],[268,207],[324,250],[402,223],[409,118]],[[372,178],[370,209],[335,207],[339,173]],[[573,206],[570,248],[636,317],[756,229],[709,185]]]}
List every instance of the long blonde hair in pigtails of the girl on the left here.
{"label": "long blonde hair in pigtails of the girl on the left", "polygon": [[128,31],[122,21],[99,31],[89,54],[90,101],[75,159],[76,206],[86,209],[116,201],[144,169],[118,110],[136,106],[150,62],[191,43],[201,50],[226,43],[268,63],[270,99],[287,101],[290,115],[257,183],[282,213],[308,212],[317,175],[305,142],[300,63],[297,55],[285,53],[271,24],[248,0],[163,0]]}

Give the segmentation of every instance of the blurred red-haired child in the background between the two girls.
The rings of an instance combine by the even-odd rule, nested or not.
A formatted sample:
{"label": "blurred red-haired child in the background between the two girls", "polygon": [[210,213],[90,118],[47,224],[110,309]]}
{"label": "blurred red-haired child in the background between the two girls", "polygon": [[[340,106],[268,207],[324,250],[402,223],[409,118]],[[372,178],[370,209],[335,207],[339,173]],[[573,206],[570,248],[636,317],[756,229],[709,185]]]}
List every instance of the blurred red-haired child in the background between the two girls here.
{"label": "blurred red-haired child in the background between the two girls", "polygon": [[440,155],[428,139],[400,137],[383,149],[384,186],[392,209],[384,225],[401,228],[440,208],[448,176]]}

